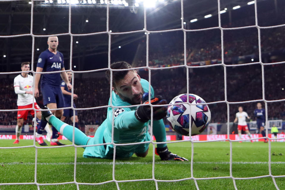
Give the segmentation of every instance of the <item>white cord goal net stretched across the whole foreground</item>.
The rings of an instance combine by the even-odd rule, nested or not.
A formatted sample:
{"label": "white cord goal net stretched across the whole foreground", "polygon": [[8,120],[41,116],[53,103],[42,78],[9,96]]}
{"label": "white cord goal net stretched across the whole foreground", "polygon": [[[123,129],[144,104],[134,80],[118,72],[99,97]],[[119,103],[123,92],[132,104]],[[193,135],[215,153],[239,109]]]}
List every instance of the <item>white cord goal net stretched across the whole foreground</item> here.
{"label": "white cord goal net stretched across the whole foreground", "polygon": [[[16,1],[16,0],[3,0],[3,1]],[[265,103],[265,110],[266,110],[266,121],[267,121],[267,125],[268,125],[268,113],[267,113],[267,103],[269,102],[281,102],[284,101],[285,99],[281,99],[281,100],[266,100],[265,99],[265,82],[264,82],[264,66],[265,65],[273,65],[273,64],[285,64],[285,62],[276,62],[276,63],[262,63],[262,56],[261,56],[261,39],[260,39],[260,29],[267,29],[267,28],[275,28],[275,27],[281,27],[281,26],[285,26],[285,24],[283,25],[278,25],[278,26],[268,26],[268,27],[261,27],[258,25],[258,19],[257,19],[257,0],[254,1],[254,10],[255,10],[255,25],[254,26],[245,26],[245,27],[238,27],[238,28],[223,28],[221,27],[221,10],[220,10],[220,0],[217,0],[217,5],[218,5],[218,18],[219,18],[219,26],[217,27],[211,27],[211,28],[205,28],[205,29],[185,29],[185,25],[184,25],[184,20],[183,20],[183,0],[181,1],[181,28],[179,29],[170,29],[170,30],[160,30],[160,31],[148,31],[147,29],[147,19],[146,19],[146,8],[144,8],[144,29],[143,30],[139,30],[139,31],[129,31],[129,32],[112,32],[109,29],[109,3],[107,3],[107,27],[106,27],[106,31],[104,32],[95,32],[95,33],[88,33],[88,34],[72,34],[71,32],[71,2],[69,2],[69,31],[68,33],[64,33],[64,34],[53,34],[53,35],[34,35],[33,34],[33,9],[34,9],[34,2],[35,1],[40,1],[40,0],[31,0],[31,32],[29,34],[20,34],[20,35],[11,35],[11,36],[0,36],[0,38],[12,38],[12,37],[21,37],[21,36],[31,36],[32,37],[32,57],[31,57],[31,72],[35,75],[36,72],[34,72],[33,70],[36,67],[36,64],[34,63],[34,51],[35,51],[35,38],[37,37],[49,37],[49,36],[62,36],[62,35],[69,35],[70,36],[70,69],[66,70],[66,71],[71,71],[72,73],[87,73],[87,72],[94,72],[94,71],[105,71],[105,70],[110,70],[110,77],[112,78],[112,69],[110,69],[110,64],[111,64],[111,58],[110,58],[110,54],[111,54],[111,36],[112,35],[120,35],[120,34],[131,34],[131,33],[136,33],[136,32],[145,32],[146,34],[146,66],[142,66],[142,67],[137,67],[137,69],[148,69],[148,74],[149,74],[149,78],[148,81],[151,84],[151,71],[152,70],[157,70],[157,69],[171,69],[171,68],[176,68],[176,67],[184,67],[186,68],[186,77],[187,77],[187,94],[189,94],[189,68],[193,67],[193,66],[188,66],[187,62],[186,62],[186,33],[187,32],[193,32],[193,31],[204,31],[204,30],[213,30],[213,29],[219,29],[221,31],[221,63],[220,64],[215,64],[215,65],[205,65],[205,66],[195,66],[195,68],[205,68],[205,67],[211,67],[211,66],[223,66],[224,68],[224,96],[225,99],[218,101],[218,102],[208,102],[207,104],[216,104],[216,103],[226,103],[227,104],[227,139],[224,140],[228,140],[229,144],[230,144],[230,157],[229,157],[229,176],[224,176],[224,177],[208,177],[208,178],[195,178],[193,175],[193,157],[194,157],[194,143],[201,143],[201,142],[197,142],[194,141],[190,138],[190,140],[182,140],[182,141],[190,141],[191,142],[191,176],[189,176],[189,178],[183,178],[183,179],[178,179],[178,180],[158,180],[155,178],[155,145],[158,144],[156,142],[154,142],[153,140],[148,141],[148,142],[143,142],[143,143],[152,143],[153,144],[153,159],[152,159],[152,178],[150,179],[137,179],[137,180],[116,180],[115,178],[115,154],[116,154],[116,146],[118,145],[125,145],[125,144],[115,144],[113,141],[113,136],[114,136],[114,130],[112,128],[112,143],[114,145],[114,157],[113,157],[113,180],[112,181],[105,181],[102,183],[79,183],[76,181],[76,168],[77,168],[77,147],[86,147],[86,146],[94,146],[94,145],[86,145],[86,146],[77,146],[74,144],[74,129],[73,128],[73,142],[72,145],[66,145],[66,147],[72,146],[75,148],[75,156],[74,156],[74,181],[70,181],[70,182],[65,182],[65,183],[38,183],[37,181],[37,154],[38,154],[38,148],[35,144],[30,145],[30,146],[21,146],[21,147],[0,147],[0,149],[11,149],[11,148],[28,148],[28,147],[34,147],[35,148],[35,171],[34,171],[34,182],[31,183],[0,183],[0,188],[2,185],[36,185],[37,189],[40,189],[40,186],[46,186],[46,185],[60,185],[60,184],[75,184],[77,186],[77,189],[79,190],[79,185],[100,185],[100,184],[105,184],[105,183],[110,183],[110,182],[115,182],[117,189],[120,189],[119,187],[119,183],[121,182],[133,182],[133,181],[154,181],[155,182],[155,186],[156,189],[159,189],[158,187],[158,182],[177,182],[177,181],[184,181],[184,180],[194,180],[196,189],[199,189],[199,186],[197,184],[198,180],[207,180],[207,179],[232,179],[233,184],[234,184],[234,188],[237,190],[237,186],[235,181],[236,180],[240,180],[240,179],[255,179],[255,178],[265,178],[265,177],[270,177],[272,178],[272,181],[274,183],[274,186],[276,189],[279,190],[278,185],[276,184],[275,178],[285,178],[285,175],[272,175],[271,172],[271,138],[268,137],[268,129],[266,129],[266,136],[267,139],[269,139],[268,141],[268,171],[269,171],[269,175],[262,175],[262,176],[256,176],[256,177],[249,177],[249,178],[236,178],[232,175],[232,142],[235,141],[240,141],[240,140],[231,140],[229,138],[230,135],[230,126],[229,126],[229,105],[230,104],[238,104],[238,103],[249,103],[249,102],[264,102]],[[257,28],[258,31],[258,50],[259,50],[259,58],[257,62],[253,62],[253,63],[246,63],[246,64],[234,64],[234,65],[227,65],[224,64],[224,30],[237,30],[237,29],[246,29],[246,28]],[[183,35],[184,35],[184,64],[183,65],[178,65],[178,66],[170,66],[170,67],[164,67],[164,68],[153,68],[150,67],[148,64],[149,61],[149,34],[151,33],[161,33],[161,32],[170,32],[170,31],[183,31]],[[72,70],[72,52],[73,52],[73,37],[74,36],[88,36],[88,35],[96,35],[96,34],[108,34],[109,40],[108,40],[108,68],[106,69],[95,69],[95,70],[89,70],[89,71],[73,71]],[[262,99],[258,99],[258,100],[252,100],[252,101],[244,101],[244,102],[229,102],[227,101],[227,71],[226,68],[227,67],[233,67],[233,66],[246,66],[246,65],[252,65],[252,64],[259,64],[261,65],[262,68]],[[126,70],[126,69],[122,69],[122,70]],[[1,72],[0,74],[19,74],[21,72]],[[43,73],[43,72],[42,72]],[[72,84],[74,84],[74,77],[72,77]],[[150,90],[150,86],[149,86],[149,90]],[[72,95],[74,94],[74,89],[72,88]],[[110,96],[112,97],[112,83],[110,84]],[[150,96],[150,94],[149,94]],[[188,100],[189,101],[189,100]],[[189,103],[189,102],[188,102]],[[80,108],[74,108],[73,107],[73,99],[72,99],[72,103],[71,103],[72,107],[69,107],[71,109],[73,109],[73,112],[75,114],[75,110],[83,110]],[[34,105],[33,105],[34,106]],[[99,106],[99,107],[91,107],[91,108],[84,108],[84,110],[86,109],[95,109],[95,108],[105,108],[108,107],[106,106]],[[111,106],[113,111],[118,108],[116,106],[112,105],[111,102]],[[134,106],[129,106],[129,107],[134,107]],[[153,108],[153,106],[151,105],[151,107]],[[35,110],[35,108],[33,107],[33,109]],[[0,110],[1,112],[4,111],[17,111],[17,109],[13,109],[13,110]],[[152,109],[151,109],[152,111]],[[114,117],[114,116],[113,116]],[[152,121],[153,118],[151,116],[151,129],[152,129]],[[75,124],[75,117],[73,120],[73,127]],[[114,118],[113,118],[113,125],[114,125]],[[35,136],[35,132],[34,131],[34,136]],[[191,134],[191,132],[190,132]],[[152,130],[151,130],[151,136],[152,136]],[[255,139],[263,139],[263,137],[260,138],[255,138]],[[279,138],[279,139],[283,139],[283,138]],[[254,139],[253,139],[254,140]],[[274,139],[276,140],[276,139]],[[208,140],[208,141],[203,141],[203,142],[213,142],[213,141],[222,141],[222,140]],[[181,142],[179,141],[172,141],[172,142],[167,142],[167,143],[176,143],[176,142]],[[106,143],[105,143],[106,144]],[[104,144],[104,145],[105,145]],[[107,143],[110,144],[110,143]],[[131,144],[141,144],[141,143],[131,143]],[[61,146],[62,147],[62,146]],[[50,147],[41,147],[41,148],[50,148]],[[58,148],[58,147],[54,147],[54,148]]]}

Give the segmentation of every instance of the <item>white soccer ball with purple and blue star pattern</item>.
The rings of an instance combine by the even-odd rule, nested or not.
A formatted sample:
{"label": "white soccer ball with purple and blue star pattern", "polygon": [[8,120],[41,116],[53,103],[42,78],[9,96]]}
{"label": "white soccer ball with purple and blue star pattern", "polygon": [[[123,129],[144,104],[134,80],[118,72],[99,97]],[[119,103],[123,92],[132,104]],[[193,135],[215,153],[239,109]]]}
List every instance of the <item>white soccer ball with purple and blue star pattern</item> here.
{"label": "white soccer ball with purple and blue star pattern", "polygon": [[[191,126],[191,136],[203,132],[211,120],[211,112],[208,105],[193,105],[206,103],[200,96],[189,94],[189,104],[169,105],[166,118],[174,131],[179,134],[189,136],[189,126]],[[187,94],[180,94],[173,98],[170,104],[187,102]]]}

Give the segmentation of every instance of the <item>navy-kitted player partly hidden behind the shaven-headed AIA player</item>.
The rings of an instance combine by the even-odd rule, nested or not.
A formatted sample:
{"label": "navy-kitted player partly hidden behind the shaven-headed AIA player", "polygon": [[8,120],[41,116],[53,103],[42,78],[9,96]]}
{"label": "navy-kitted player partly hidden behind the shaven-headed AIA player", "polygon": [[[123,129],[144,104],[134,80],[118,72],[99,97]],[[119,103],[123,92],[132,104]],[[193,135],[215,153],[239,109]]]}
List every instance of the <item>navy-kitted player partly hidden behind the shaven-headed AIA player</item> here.
{"label": "navy-kitted player partly hidden behind the shaven-headed AIA player", "polygon": [[[67,78],[69,83],[71,84],[71,78],[72,78],[72,72],[68,71],[66,72]],[[64,103],[65,107],[71,107],[71,90],[67,88],[67,85],[64,81],[61,81],[60,85],[63,97],[64,97]],[[78,96],[76,94],[73,94],[73,99],[77,99]],[[76,108],[75,103],[73,102],[73,107]],[[64,121],[66,117],[69,117],[71,121],[73,122],[73,110],[72,109],[64,109],[63,115],[61,116],[61,121]],[[77,117],[77,110],[75,110],[75,127],[78,128],[78,117]]]}

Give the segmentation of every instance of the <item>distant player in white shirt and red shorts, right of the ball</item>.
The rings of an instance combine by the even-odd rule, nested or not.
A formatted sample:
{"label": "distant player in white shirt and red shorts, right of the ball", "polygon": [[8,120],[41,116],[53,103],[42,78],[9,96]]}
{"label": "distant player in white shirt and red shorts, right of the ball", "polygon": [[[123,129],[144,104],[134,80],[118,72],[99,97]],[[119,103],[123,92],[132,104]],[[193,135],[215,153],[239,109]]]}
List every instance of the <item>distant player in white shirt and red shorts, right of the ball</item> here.
{"label": "distant player in white shirt and red shorts, right of the ball", "polygon": [[[241,140],[241,131],[245,131],[246,134],[248,135],[249,138],[250,137],[250,132],[248,131],[248,126],[247,126],[247,123],[246,123],[246,118],[250,119],[248,117],[248,114],[246,112],[243,111],[243,107],[240,106],[238,107],[238,113],[235,114],[235,122],[238,121],[238,136],[240,137],[240,140]],[[241,143],[242,141],[240,141]],[[251,140],[251,142],[253,142]]]}

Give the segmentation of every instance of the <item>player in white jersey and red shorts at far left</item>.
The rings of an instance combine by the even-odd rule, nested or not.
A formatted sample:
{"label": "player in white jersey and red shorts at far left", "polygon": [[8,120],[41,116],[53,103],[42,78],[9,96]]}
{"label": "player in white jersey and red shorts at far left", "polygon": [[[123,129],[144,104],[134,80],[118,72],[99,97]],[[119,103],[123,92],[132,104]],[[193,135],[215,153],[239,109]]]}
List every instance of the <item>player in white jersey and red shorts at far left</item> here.
{"label": "player in white jersey and red shorts at far left", "polygon": [[[23,62],[21,64],[22,71],[30,70],[30,62]],[[18,109],[31,108],[30,110],[18,110],[17,113],[17,126],[16,126],[16,140],[13,144],[18,144],[20,140],[20,134],[22,132],[22,126],[24,120],[27,120],[28,113],[34,117],[35,112],[32,109],[33,103],[34,108],[39,110],[40,107],[37,105],[36,99],[33,96],[33,81],[34,77],[28,75],[27,72],[22,72],[20,75],[14,78],[14,90],[18,94],[17,105]],[[37,118],[41,119],[41,112],[37,111]]]}

